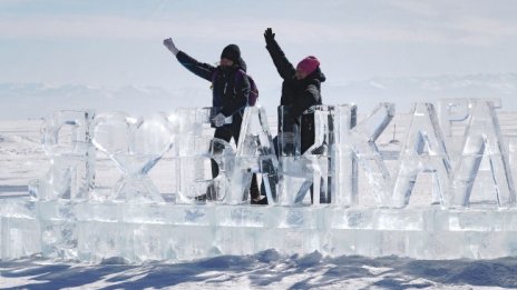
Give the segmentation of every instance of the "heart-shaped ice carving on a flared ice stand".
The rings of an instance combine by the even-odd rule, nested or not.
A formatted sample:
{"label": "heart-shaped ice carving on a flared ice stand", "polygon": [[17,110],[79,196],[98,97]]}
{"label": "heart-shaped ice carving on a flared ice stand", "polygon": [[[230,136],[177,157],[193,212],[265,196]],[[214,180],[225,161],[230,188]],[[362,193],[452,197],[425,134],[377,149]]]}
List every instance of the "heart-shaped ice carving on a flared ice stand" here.
{"label": "heart-shaped ice carving on a flared ice stand", "polygon": [[170,124],[164,114],[135,119],[121,112],[99,114],[94,120],[94,144],[123,172],[114,199],[164,201],[149,170],[173,146]]}

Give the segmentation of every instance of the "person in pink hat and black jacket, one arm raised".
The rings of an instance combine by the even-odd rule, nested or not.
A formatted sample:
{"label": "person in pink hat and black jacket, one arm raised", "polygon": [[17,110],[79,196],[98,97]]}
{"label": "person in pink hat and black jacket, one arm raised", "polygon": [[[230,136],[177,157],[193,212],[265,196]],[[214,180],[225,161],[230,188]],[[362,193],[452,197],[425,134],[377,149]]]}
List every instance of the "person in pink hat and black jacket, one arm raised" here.
{"label": "person in pink hat and black jacket, one arm raised", "polygon": [[[300,127],[300,151],[303,154],[314,144],[314,116],[303,112],[312,106],[322,104],[321,83],[325,81],[325,76],[320,69],[320,61],[313,56],[302,59],[294,68],[274,37],[273,30],[267,28],[264,32],[265,48],[270,52],[280,77],[283,79],[280,104],[290,108],[291,122]],[[283,129],[280,128],[279,122],[279,132]],[[279,154],[277,138],[275,138],[275,144]]]}

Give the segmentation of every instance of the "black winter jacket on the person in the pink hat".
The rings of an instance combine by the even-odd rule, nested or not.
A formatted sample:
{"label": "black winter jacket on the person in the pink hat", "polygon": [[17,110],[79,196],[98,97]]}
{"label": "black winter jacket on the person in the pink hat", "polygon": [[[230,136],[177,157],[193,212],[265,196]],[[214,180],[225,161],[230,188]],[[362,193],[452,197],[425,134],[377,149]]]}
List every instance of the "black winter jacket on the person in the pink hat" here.
{"label": "black winter jacket on the person in the pink hat", "polygon": [[[282,83],[281,106],[291,107],[291,116],[297,123],[301,118],[301,151],[302,153],[314,143],[314,116],[302,113],[311,106],[321,104],[321,83],[325,76],[318,68],[303,80],[295,78],[296,69],[285,57],[279,43],[273,39],[267,41],[266,49],[273,59]],[[279,128],[280,129],[280,128]]]}

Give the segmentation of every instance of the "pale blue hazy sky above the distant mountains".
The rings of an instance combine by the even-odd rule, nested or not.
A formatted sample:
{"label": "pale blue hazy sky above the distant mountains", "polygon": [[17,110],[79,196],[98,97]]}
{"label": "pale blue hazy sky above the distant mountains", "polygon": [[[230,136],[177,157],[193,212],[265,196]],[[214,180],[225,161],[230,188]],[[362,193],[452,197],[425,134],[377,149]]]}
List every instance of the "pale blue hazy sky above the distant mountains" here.
{"label": "pale blue hazy sky above the distant mountains", "polygon": [[294,64],[320,58],[330,84],[516,72],[515,16],[513,0],[0,0],[0,83],[207,87],[162,46],[173,37],[206,62],[237,43],[269,90],[281,79],[264,49],[267,27]]}

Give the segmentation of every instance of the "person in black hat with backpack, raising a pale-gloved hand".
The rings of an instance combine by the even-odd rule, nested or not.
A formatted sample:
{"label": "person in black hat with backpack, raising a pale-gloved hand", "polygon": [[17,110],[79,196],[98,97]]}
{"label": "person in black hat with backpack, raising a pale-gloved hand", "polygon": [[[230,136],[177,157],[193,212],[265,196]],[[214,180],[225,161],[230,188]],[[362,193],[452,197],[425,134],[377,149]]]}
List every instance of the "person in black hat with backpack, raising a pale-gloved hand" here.
{"label": "person in black hat with backpack, raising a pale-gloved hand", "polygon": [[[203,78],[213,86],[212,107],[220,108],[218,113],[213,118],[215,126],[215,138],[223,139],[227,142],[234,138],[235,143],[238,143],[241,124],[243,121],[244,109],[247,106],[250,96],[250,80],[245,76],[236,76],[246,71],[246,63],[241,57],[241,50],[236,44],[228,44],[221,53],[220,66],[214,67],[208,63],[203,63],[189,57],[184,51],[176,48],[172,38],[164,40],[164,46],[176,56],[176,59],[187,70],[199,78]],[[231,123],[225,123],[227,117],[232,117]],[[218,174],[218,167],[212,160],[212,174]],[[212,189],[208,189],[207,198],[209,199]],[[256,176],[253,174],[252,184],[250,188],[251,202],[262,203],[263,197],[260,194]]]}

